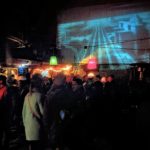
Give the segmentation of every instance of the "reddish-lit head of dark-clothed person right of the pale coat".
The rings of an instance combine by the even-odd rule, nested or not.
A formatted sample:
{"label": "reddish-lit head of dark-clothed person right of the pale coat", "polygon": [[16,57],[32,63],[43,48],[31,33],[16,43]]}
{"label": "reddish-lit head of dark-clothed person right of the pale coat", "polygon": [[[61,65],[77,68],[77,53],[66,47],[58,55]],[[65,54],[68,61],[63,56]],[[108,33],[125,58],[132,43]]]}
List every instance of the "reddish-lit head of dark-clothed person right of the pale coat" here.
{"label": "reddish-lit head of dark-clothed person right of the pale coat", "polygon": [[55,76],[53,84],[55,86],[61,86],[64,85],[66,83],[66,76],[62,73],[59,73]]}

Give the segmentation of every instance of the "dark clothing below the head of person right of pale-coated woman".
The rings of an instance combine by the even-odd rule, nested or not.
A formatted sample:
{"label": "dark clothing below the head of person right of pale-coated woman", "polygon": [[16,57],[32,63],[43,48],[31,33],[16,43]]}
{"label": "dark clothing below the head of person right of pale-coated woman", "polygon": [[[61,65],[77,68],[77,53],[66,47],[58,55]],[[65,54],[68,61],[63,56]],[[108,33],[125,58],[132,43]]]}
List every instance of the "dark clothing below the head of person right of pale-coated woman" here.
{"label": "dark clothing below the head of person right of pale-coated woman", "polygon": [[[48,92],[44,103],[44,127],[48,133],[50,145],[64,145],[65,134],[67,132],[70,109],[72,105],[71,90],[65,85],[52,87]],[[61,116],[61,112],[65,112],[65,117]],[[63,119],[62,119],[63,118]]]}

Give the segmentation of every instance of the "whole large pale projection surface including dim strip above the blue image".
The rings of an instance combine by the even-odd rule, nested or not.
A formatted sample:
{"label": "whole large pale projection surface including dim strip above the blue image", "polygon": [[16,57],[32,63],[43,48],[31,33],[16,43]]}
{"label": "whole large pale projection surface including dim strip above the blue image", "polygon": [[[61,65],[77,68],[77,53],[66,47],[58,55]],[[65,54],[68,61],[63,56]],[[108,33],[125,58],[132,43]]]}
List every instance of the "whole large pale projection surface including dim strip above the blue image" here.
{"label": "whole large pale projection surface including dim strip above the blue image", "polygon": [[64,63],[95,56],[99,64],[150,61],[150,5],[96,5],[58,17],[57,46]]}

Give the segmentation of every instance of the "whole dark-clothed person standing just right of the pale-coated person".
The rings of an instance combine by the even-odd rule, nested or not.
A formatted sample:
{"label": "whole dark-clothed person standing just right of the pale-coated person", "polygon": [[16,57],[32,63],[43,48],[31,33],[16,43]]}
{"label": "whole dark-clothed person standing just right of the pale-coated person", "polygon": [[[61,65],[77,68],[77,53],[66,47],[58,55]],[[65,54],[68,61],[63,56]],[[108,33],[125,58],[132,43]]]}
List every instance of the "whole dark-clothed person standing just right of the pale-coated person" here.
{"label": "whole dark-clothed person standing just right of the pale-coated person", "polygon": [[49,136],[51,148],[64,147],[64,134],[66,131],[65,119],[70,107],[70,91],[66,86],[66,77],[58,74],[48,91],[44,104],[44,126]]}

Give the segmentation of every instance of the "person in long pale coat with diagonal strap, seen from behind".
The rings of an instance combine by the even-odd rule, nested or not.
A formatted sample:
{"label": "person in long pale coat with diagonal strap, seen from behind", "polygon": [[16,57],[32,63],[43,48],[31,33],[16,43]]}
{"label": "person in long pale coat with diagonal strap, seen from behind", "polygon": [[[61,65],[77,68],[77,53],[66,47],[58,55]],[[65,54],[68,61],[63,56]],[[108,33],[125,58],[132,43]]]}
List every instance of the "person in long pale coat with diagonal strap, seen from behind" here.
{"label": "person in long pale coat with diagonal strap, seen from behind", "polygon": [[43,150],[43,105],[40,86],[42,80],[38,75],[31,79],[29,93],[25,96],[22,117],[25,128],[26,141],[29,150]]}

